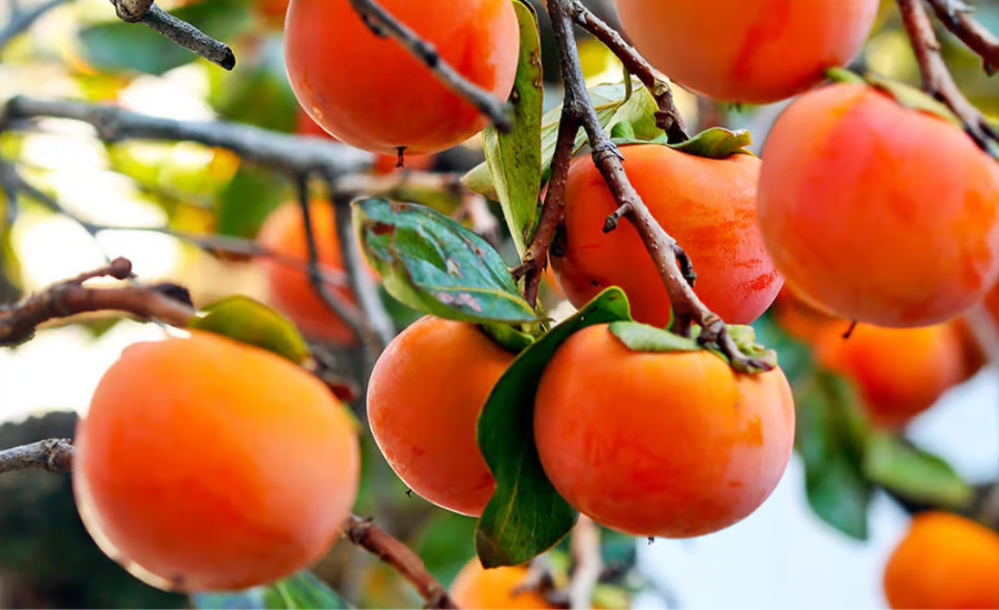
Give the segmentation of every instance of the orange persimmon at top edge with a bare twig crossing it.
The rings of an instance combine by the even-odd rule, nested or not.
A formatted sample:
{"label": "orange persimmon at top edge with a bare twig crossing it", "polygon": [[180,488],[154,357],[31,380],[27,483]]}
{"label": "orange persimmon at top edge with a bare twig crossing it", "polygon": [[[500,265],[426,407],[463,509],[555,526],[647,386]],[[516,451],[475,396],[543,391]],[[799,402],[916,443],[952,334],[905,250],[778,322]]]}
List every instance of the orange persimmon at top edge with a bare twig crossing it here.
{"label": "orange persimmon at top edge with a bare twig crossing it", "polygon": [[[412,0],[380,4],[465,79],[497,98],[509,94],[519,57],[519,27],[509,0],[437,0],[433,10]],[[373,32],[349,0],[292,0],[285,60],[305,112],[359,149],[435,153],[487,124],[398,42]]]}

